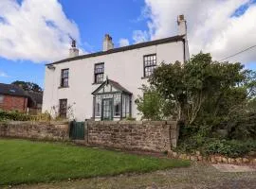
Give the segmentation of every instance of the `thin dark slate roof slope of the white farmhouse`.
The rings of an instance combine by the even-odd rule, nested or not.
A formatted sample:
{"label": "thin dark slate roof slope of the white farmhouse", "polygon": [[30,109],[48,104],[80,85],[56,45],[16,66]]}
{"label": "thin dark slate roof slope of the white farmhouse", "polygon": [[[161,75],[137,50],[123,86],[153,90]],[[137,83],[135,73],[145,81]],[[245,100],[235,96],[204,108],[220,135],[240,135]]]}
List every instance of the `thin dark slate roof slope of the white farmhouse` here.
{"label": "thin dark slate roof slope of the white farmhouse", "polygon": [[142,48],[142,47],[151,46],[151,45],[156,45],[156,44],[179,42],[179,41],[183,41],[183,40],[184,40],[184,35],[177,35],[177,36],[164,38],[164,39],[160,39],[160,40],[144,42],[144,43],[137,43],[137,44],[132,44],[132,45],[128,45],[128,46],[122,46],[122,47],[119,47],[119,48],[113,48],[113,49],[110,49],[108,51],[101,51],[101,52],[97,52],[97,53],[91,53],[91,54],[87,54],[87,55],[81,55],[81,56],[77,56],[77,57],[67,58],[67,59],[64,59],[64,60],[59,60],[59,61],[55,61],[55,62],[52,62],[52,63],[47,63],[46,66],[47,65],[52,65],[52,64],[63,63],[63,62],[66,62],[66,61],[82,60],[82,59],[86,59],[86,58],[90,58],[90,57],[98,57],[98,56],[101,56],[101,55],[118,53],[118,52],[122,52],[122,51],[126,51],[126,50],[133,50],[133,49]]}

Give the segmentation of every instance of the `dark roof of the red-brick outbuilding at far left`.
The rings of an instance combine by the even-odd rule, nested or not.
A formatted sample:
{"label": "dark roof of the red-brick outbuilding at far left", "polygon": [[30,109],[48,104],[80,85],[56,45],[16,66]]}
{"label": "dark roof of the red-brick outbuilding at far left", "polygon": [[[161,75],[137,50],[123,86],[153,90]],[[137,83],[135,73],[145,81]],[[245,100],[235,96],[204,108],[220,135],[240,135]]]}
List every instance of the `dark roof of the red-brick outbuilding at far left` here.
{"label": "dark roof of the red-brick outbuilding at far left", "polygon": [[25,96],[27,97],[26,92],[12,84],[5,84],[5,83],[0,83],[0,94],[9,94],[9,95],[18,95],[18,96]]}

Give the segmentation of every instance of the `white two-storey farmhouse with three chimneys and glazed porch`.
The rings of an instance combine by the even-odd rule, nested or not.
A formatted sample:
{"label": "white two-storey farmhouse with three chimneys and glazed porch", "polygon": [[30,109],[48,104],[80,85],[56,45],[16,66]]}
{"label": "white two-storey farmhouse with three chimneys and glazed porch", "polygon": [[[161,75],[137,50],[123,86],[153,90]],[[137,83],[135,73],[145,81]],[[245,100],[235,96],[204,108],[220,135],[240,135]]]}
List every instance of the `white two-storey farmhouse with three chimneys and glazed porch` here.
{"label": "white two-storey farmhouse with three chimneys and glazed porch", "polygon": [[119,48],[105,35],[101,52],[82,56],[73,41],[68,59],[46,64],[43,112],[78,121],[139,119],[135,100],[155,67],[189,60],[183,15],[177,24],[177,36]]}

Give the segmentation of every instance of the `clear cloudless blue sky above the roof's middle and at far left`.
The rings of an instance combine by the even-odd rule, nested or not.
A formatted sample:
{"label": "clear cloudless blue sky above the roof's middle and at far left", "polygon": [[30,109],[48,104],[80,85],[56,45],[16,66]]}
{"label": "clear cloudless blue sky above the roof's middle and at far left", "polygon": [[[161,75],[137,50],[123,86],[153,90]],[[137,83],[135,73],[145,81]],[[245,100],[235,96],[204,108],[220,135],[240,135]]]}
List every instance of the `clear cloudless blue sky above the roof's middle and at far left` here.
{"label": "clear cloudless blue sky above the roof's middle and at far left", "polygon": [[[75,3],[73,0],[61,0],[59,2],[67,18],[79,26],[80,46],[88,52],[101,50],[105,33],[111,33],[114,43],[119,43],[120,38],[131,38],[134,28],[146,27],[145,22],[135,22],[144,6],[142,0],[76,0]],[[30,60],[8,60],[0,57],[0,70],[8,75],[0,77],[0,82],[10,83],[19,79],[44,86],[44,61],[34,63]]]}

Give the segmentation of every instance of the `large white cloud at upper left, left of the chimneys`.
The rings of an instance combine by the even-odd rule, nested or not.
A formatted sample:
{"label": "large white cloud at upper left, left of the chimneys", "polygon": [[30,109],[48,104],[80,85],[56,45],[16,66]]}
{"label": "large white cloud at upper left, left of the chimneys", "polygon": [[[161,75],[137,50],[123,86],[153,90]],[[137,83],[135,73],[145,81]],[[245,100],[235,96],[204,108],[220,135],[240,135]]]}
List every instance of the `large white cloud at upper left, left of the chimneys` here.
{"label": "large white cloud at upper left, left of the chimneys", "polygon": [[51,61],[68,56],[68,34],[79,41],[78,26],[57,0],[0,1],[0,57]]}

